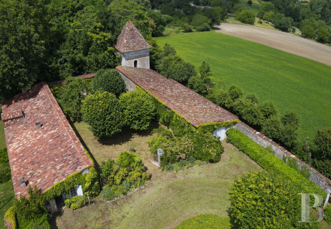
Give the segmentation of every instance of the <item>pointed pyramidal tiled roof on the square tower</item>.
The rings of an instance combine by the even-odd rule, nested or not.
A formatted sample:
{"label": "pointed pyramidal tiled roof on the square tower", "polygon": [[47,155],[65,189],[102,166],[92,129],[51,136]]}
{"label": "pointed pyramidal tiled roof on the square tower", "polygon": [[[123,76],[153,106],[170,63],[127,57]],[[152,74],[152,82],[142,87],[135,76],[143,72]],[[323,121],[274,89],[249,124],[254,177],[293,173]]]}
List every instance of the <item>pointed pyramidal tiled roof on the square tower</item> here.
{"label": "pointed pyramidal tiled roof on the square tower", "polygon": [[115,48],[123,53],[153,47],[147,43],[133,23],[128,21],[117,38]]}

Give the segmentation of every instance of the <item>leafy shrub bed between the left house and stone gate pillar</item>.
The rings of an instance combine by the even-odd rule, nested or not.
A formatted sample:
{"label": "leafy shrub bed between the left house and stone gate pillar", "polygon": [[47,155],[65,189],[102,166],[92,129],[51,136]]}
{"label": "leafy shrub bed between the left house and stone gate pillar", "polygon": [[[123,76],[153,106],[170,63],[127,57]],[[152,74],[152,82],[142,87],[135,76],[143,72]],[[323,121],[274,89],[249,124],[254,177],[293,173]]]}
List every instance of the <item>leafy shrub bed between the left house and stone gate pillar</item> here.
{"label": "leafy shrub bed between the left house and stone gate pillar", "polygon": [[141,157],[132,151],[121,152],[116,161],[103,161],[100,168],[101,177],[107,178],[107,185],[100,194],[103,200],[123,196],[146,185],[150,178]]}

